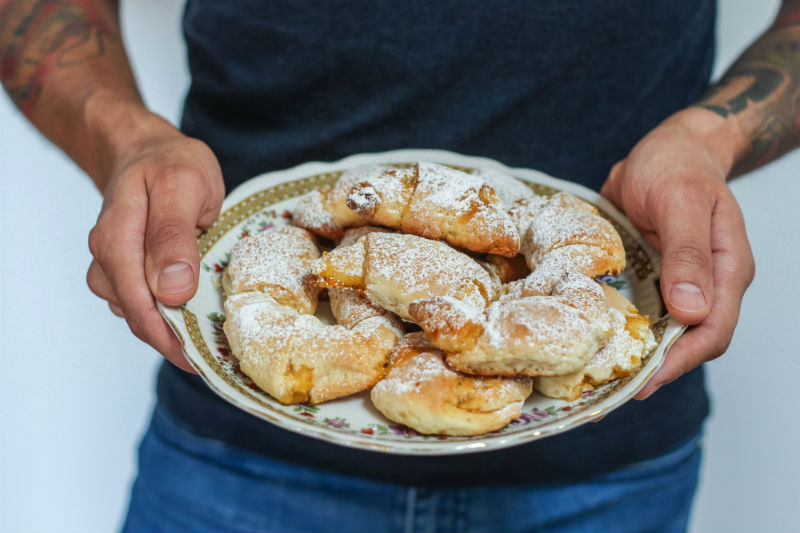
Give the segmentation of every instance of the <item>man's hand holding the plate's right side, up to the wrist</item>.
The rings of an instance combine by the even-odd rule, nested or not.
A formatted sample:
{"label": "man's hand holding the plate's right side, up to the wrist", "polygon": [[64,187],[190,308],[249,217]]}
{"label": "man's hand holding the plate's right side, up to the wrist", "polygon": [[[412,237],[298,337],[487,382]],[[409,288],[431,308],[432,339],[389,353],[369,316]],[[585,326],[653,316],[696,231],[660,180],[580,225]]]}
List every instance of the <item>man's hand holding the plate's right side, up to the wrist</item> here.
{"label": "man's hand holding the plate's right side, up to the wrist", "polygon": [[674,115],[611,169],[601,191],[661,252],[664,301],[692,325],[637,399],[725,352],[755,273],[742,213],[725,183],[733,156],[708,125],[715,118],[699,109]]}

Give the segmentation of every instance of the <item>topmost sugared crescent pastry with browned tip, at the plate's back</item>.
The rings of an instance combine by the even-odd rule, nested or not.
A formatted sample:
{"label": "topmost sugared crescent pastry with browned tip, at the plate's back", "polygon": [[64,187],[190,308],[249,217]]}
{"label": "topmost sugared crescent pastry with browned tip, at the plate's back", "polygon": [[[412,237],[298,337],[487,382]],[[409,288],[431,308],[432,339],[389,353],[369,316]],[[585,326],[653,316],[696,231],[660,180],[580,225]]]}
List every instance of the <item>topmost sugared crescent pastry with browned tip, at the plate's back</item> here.
{"label": "topmost sugared crescent pastry with browned tip, at the plate's back", "polygon": [[347,205],[372,224],[442,239],[474,252],[513,257],[519,234],[485,181],[442,165],[417,163],[356,183]]}

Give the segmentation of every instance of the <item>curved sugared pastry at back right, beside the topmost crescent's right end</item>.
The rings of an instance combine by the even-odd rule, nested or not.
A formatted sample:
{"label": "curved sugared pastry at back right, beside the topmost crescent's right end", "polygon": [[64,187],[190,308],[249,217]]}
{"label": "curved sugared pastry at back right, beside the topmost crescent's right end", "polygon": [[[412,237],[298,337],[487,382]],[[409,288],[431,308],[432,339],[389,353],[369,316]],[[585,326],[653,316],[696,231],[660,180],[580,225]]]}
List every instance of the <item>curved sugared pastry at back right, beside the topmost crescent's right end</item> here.
{"label": "curved sugared pastry at back right, beside the topmost crescent's right end", "polygon": [[531,270],[544,257],[569,245],[595,248],[597,261],[607,265],[599,274],[619,274],[625,268],[622,239],[597,208],[565,192],[519,200],[509,210],[520,233],[520,253]]}

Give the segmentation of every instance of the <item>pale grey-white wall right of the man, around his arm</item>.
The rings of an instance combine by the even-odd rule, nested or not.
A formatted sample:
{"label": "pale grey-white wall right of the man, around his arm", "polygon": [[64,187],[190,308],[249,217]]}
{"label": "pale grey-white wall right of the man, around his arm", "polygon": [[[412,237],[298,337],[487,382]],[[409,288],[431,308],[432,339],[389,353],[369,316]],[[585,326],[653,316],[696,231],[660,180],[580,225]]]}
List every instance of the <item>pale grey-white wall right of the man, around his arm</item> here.
{"label": "pale grey-white wall right of the man, around his arm", "polygon": [[[777,0],[720,2],[717,74],[760,33]],[[713,415],[694,531],[800,531],[800,150],[731,183],[756,279],[728,353],[708,365]]]}

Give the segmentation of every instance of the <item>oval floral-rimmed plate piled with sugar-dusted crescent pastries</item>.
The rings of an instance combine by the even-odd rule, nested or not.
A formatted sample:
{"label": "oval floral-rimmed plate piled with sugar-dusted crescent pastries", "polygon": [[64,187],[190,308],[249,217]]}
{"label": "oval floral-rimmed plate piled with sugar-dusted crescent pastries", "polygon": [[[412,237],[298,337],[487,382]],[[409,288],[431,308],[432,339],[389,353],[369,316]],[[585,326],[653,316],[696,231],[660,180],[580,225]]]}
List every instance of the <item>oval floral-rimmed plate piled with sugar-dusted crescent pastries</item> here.
{"label": "oval floral-rimmed plate piled with sugar-dusted crescent pastries", "polygon": [[249,180],[160,306],[217,394],[344,446],[444,455],[630,400],[683,331],[658,254],[596,192],[440,150]]}

